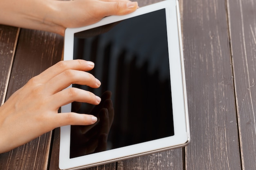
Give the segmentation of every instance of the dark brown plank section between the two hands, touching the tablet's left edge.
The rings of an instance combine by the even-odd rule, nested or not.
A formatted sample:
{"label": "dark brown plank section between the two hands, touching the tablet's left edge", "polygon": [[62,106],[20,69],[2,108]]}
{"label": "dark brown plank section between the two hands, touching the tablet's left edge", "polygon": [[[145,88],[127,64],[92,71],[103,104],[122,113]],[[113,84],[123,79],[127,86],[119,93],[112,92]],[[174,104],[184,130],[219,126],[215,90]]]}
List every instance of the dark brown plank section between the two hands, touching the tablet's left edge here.
{"label": "dark brown plank section between the two hands, touching the tablet's left edge", "polygon": [[7,95],[61,60],[63,37],[54,33],[22,29]]}

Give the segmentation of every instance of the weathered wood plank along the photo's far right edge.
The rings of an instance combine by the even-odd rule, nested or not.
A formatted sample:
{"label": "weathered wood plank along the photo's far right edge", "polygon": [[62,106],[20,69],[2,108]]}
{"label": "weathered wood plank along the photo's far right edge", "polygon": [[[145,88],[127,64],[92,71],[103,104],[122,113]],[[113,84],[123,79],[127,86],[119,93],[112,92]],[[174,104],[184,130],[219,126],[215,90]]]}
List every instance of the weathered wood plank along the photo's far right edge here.
{"label": "weathered wood plank along the photo's far right edge", "polygon": [[243,170],[256,169],[256,3],[228,0]]}

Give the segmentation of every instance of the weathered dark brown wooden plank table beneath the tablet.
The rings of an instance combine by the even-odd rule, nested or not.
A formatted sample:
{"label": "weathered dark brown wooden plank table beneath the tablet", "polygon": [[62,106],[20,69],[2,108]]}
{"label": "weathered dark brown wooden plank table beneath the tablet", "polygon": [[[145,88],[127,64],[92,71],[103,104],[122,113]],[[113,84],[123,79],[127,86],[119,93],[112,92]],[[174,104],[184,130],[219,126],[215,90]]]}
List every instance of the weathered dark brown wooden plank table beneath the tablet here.
{"label": "weathered dark brown wooden plank table beneath the tablet", "polygon": [[[191,143],[90,170],[256,169],[256,2],[180,0],[180,12]],[[62,53],[60,35],[0,25],[0,102]],[[59,128],[0,154],[0,169],[57,170],[58,142]]]}

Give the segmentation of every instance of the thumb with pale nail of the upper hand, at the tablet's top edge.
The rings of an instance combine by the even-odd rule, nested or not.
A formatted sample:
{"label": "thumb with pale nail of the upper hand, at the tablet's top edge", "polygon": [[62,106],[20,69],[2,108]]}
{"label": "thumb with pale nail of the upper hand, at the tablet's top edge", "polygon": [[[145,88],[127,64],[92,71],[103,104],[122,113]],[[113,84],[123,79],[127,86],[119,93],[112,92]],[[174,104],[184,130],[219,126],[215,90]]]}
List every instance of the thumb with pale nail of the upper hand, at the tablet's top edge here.
{"label": "thumb with pale nail of the upper hand, at the tablet's top edge", "polygon": [[126,15],[134,12],[138,8],[137,2],[124,2],[124,1],[103,1],[105,2],[101,10],[97,12],[101,17],[110,15]]}

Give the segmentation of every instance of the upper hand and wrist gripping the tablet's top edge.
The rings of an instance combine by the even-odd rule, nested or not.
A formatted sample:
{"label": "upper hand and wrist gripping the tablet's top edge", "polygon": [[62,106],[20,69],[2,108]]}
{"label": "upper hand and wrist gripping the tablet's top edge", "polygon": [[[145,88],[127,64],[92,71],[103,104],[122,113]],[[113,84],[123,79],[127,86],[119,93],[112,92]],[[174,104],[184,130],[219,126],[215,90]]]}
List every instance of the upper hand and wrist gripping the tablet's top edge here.
{"label": "upper hand and wrist gripping the tablet's top edge", "polygon": [[64,35],[66,28],[86,26],[137,8],[137,2],[129,0],[0,0],[0,23]]}

